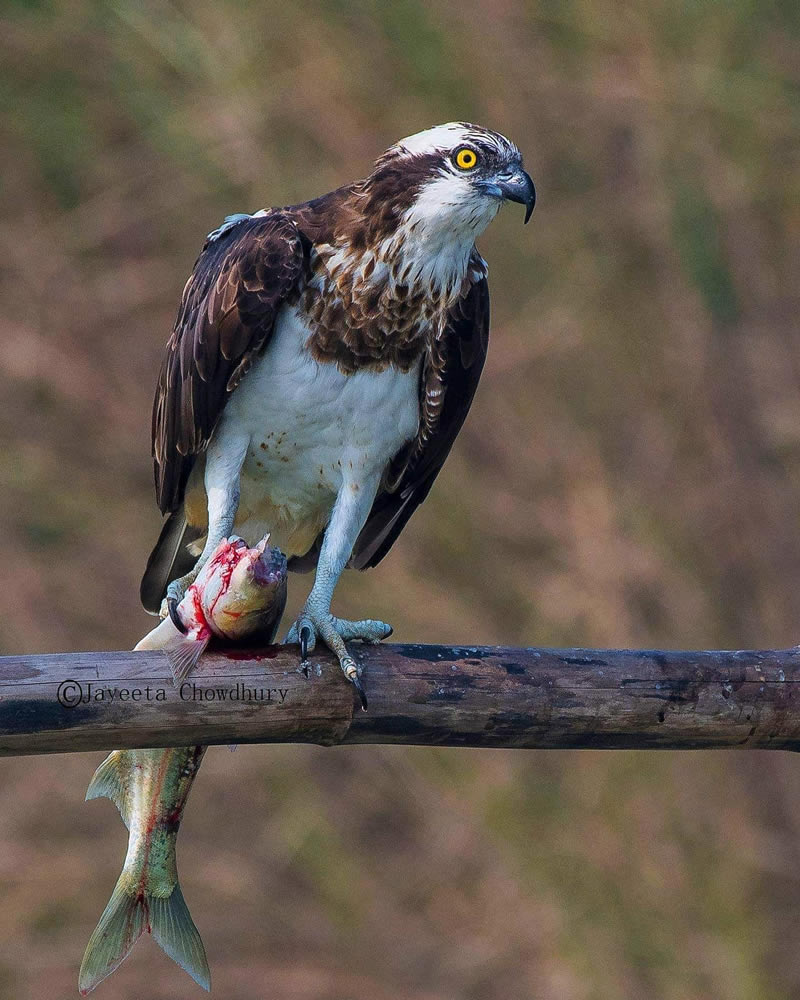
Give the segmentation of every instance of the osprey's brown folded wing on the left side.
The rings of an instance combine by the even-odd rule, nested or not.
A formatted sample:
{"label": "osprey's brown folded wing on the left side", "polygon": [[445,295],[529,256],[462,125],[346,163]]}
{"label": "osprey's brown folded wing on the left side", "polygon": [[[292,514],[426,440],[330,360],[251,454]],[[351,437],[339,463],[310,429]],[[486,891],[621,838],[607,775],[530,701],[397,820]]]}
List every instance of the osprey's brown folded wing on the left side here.
{"label": "osprey's brown folded wing on the left side", "polygon": [[280,212],[217,233],[183,290],[153,403],[156,497],[165,514],[180,507],[195,457],[303,274],[304,239]]}

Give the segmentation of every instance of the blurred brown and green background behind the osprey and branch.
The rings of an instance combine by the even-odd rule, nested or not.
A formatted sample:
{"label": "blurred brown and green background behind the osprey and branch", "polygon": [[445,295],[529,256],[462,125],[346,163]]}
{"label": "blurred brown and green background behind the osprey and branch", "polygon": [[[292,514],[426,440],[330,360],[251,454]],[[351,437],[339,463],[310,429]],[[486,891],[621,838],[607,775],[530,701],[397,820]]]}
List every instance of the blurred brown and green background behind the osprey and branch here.
{"label": "blurred brown and green background behind the osprey and branch", "polygon": [[[339,613],[399,640],[800,641],[795,0],[40,0],[0,23],[0,652],[130,647],[150,405],[205,234],[467,119],[539,204],[480,249],[458,445]],[[292,602],[304,596],[300,578]],[[71,997],[102,754],[0,763],[0,996]],[[800,995],[800,762],[223,748],[181,834],[228,1000]],[[150,940],[98,997],[194,998]]]}

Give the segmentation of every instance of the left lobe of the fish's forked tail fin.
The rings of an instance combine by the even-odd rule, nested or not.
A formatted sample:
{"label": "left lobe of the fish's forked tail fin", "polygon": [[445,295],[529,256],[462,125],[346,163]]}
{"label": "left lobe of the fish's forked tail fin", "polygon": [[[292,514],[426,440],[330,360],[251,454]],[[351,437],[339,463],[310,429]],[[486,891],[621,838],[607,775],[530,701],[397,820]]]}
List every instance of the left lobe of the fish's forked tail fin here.
{"label": "left lobe of the fish's forked tail fin", "polygon": [[81,996],[111,975],[147,929],[147,899],[117,882],[86,945],[78,974]]}

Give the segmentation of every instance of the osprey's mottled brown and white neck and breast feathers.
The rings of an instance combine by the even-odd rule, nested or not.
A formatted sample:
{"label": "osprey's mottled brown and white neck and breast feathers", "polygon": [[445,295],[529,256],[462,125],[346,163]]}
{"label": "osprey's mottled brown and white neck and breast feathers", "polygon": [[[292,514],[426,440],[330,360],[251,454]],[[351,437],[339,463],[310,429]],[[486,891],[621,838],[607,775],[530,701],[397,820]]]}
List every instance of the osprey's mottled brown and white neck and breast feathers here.
{"label": "osprey's mottled brown and white neck and breast feathers", "polygon": [[396,166],[379,162],[353,186],[336,206],[340,224],[311,252],[301,296],[312,329],[308,347],[348,374],[408,371],[486,273],[475,238],[499,206],[459,201],[451,178],[432,173],[427,157],[404,157],[401,174]]}

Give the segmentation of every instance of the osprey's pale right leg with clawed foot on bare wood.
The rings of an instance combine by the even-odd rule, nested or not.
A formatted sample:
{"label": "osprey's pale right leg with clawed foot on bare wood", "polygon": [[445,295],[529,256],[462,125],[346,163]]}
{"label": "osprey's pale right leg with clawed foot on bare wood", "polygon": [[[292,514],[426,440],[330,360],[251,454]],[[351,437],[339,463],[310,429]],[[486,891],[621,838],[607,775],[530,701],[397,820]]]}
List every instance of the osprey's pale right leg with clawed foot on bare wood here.
{"label": "osprey's pale right leg with clawed foot on bare wood", "polygon": [[355,660],[347,652],[345,642],[350,639],[380,642],[392,634],[392,627],[385,622],[369,618],[355,622],[334,618],[331,614],[331,600],[342,570],[350,558],[358,534],[372,507],[378,482],[379,479],[375,478],[368,487],[364,483],[345,483],[339,491],[322,541],[314,586],[297,621],[286,636],[286,642],[300,643],[303,660],[314,649],[317,639],[321,639],[339,658],[344,675],[355,685],[364,709],[367,707],[367,698],[361,683],[360,671]]}

